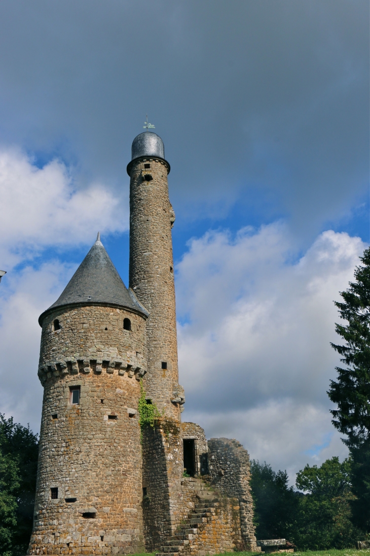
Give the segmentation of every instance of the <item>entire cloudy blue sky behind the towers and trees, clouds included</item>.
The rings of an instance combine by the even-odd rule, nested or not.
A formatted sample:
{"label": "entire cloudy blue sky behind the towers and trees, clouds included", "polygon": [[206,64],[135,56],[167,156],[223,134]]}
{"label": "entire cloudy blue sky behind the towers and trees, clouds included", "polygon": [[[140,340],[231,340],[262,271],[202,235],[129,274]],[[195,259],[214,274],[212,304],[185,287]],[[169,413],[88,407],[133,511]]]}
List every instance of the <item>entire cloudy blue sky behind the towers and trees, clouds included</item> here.
{"label": "entire cloudy blue sky behind the towers and trees, clouds included", "polygon": [[368,12],[0,3],[0,410],[38,429],[37,317],[98,230],[127,283],[126,165],[148,112],[171,165],[185,419],[292,477],[346,455],[326,390],[332,300],[370,234]]}

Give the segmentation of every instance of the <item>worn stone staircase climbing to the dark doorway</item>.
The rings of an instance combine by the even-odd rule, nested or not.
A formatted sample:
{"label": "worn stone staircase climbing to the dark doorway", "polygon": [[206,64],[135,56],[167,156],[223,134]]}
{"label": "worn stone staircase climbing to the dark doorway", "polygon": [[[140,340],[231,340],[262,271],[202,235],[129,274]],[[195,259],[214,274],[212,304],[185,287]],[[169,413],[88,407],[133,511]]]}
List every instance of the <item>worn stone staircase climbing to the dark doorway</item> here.
{"label": "worn stone staircase climbing to the dark doorway", "polygon": [[161,552],[156,553],[156,556],[178,556],[179,553],[202,556],[217,552],[213,546],[204,545],[205,539],[201,539],[201,534],[207,524],[217,519],[216,511],[220,504],[220,494],[207,490],[204,483],[199,486],[195,508],[190,510],[176,533],[166,541],[165,546],[161,547]]}

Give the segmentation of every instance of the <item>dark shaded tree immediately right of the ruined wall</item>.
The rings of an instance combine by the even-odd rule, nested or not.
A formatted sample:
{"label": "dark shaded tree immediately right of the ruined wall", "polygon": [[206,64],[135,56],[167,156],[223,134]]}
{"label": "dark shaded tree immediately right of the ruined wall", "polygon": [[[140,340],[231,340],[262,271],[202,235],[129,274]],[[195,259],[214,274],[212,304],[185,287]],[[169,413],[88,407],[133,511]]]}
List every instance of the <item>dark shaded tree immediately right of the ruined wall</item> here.
{"label": "dark shaded tree immediately right of the ruined wall", "polygon": [[257,539],[287,538],[295,530],[298,496],[288,486],[286,471],[273,471],[271,466],[251,461],[251,490],[255,505]]}

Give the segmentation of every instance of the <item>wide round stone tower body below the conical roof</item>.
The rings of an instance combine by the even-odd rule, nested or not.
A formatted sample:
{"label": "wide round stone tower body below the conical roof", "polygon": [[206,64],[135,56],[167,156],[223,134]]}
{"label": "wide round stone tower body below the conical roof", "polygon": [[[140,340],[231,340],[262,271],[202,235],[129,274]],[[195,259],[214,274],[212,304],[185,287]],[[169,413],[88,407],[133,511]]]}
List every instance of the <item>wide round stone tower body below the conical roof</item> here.
{"label": "wide round stone tower body below the conical roof", "polygon": [[[123,330],[123,318],[131,331]],[[60,329],[54,330],[58,318]],[[55,310],[43,322],[44,386],[29,554],[117,554],[144,547],[137,414],[145,321],[111,307]],[[80,387],[78,404],[70,388]],[[50,489],[58,489],[52,499]]]}

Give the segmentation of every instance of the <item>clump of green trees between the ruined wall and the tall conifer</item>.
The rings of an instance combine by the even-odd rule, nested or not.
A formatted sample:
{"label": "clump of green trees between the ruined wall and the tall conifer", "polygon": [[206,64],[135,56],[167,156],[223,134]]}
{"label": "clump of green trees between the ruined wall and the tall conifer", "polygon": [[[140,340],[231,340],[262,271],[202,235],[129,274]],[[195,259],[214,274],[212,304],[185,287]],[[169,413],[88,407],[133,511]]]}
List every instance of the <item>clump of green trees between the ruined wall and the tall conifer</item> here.
{"label": "clump of green trees between the ruined wall and the tall conifer", "polygon": [[306,465],[288,486],[286,471],[251,463],[257,539],[285,538],[301,550],[353,546],[358,530],[351,522],[354,498],[349,482],[351,461],[326,460],[321,467]]}

